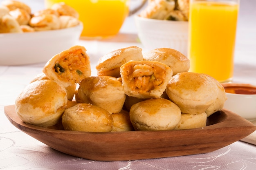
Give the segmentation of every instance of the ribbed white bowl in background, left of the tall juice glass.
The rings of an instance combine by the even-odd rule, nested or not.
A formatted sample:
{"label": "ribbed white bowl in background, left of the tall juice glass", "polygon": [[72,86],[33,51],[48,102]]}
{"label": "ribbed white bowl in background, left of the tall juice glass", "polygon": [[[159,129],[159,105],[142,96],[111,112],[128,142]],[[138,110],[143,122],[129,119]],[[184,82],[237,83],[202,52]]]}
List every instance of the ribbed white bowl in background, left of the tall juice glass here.
{"label": "ribbed white bowl in background, left of the tall juice glass", "polygon": [[139,40],[147,50],[171,48],[187,56],[188,22],[155,20],[136,15],[135,24]]}

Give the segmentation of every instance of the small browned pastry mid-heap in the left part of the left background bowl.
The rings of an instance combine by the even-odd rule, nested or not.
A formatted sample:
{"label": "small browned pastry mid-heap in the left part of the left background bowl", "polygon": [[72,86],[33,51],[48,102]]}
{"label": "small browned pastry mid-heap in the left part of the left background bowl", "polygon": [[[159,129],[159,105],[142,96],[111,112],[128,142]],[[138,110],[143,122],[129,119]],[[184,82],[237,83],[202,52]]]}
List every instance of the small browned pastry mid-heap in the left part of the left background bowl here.
{"label": "small browned pastry mid-heap in the left part of the left background bowl", "polygon": [[31,19],[31,16],[27,11],[24,9],[14,9],[9,12],[9,14],[15,18],[20,25],[27,25],[29,24],[29,20]]}

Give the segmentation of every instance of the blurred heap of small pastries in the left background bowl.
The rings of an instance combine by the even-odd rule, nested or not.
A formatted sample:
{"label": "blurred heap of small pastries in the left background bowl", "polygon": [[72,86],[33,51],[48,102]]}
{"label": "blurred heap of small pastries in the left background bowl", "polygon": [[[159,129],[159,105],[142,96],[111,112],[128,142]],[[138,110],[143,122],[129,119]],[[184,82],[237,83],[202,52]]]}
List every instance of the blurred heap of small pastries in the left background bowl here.
{"label": "blurred heap of small pastries in the left background bowl", "polygon": [[80,24],[78,18],[78,12],[64,2],[32,13],[23,2],[4,0],[0,5],[0,33],[64,29]]}

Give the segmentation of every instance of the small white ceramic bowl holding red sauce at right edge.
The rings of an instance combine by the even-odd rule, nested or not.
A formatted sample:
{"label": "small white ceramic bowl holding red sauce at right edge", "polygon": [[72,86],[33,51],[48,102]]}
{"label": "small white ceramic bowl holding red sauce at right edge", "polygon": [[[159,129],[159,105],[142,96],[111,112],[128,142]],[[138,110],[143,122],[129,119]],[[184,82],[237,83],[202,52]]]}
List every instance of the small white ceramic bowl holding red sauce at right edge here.
{"label": "small white ceramic bowl holding red sauce at right edge", "polygon": [[[253,87],[256,90],[256,86],[251,84],[225,83],[225,84],[222,84],[222,86],[224,88],[227,86]],[[241,117],[249,121],[256,120],[256,94],[226,93],[226,95],[227,95],[227,100],[224,104],[224,108],[231,110],[232,112],[240,115]]]}

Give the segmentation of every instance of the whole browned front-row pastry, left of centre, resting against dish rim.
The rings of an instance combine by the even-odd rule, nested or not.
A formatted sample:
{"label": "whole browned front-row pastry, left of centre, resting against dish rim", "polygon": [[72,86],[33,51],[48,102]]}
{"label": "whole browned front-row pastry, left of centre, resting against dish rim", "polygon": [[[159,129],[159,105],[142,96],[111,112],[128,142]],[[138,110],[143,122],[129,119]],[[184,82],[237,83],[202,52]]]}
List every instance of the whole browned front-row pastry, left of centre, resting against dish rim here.
{"label": "whole browned front-row pastry, left of centre, resting against dish rim", "polygon": [[67,108],[62,116],[65,130],[111,132],[113,119],[107,110],[92,104],[79,103]]}

